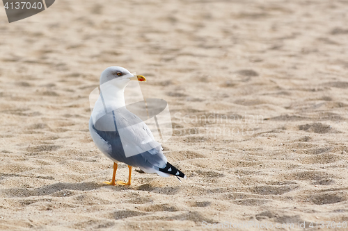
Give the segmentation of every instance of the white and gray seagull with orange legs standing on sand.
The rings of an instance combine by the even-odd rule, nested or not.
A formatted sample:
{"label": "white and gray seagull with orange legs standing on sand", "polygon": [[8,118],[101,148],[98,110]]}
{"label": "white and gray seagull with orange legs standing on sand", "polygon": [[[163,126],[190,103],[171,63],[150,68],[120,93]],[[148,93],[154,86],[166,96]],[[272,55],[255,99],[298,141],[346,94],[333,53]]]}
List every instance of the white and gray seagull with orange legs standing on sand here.
{"label": "white and gray seagull with orange legs standing on sand", "polygon": [[[144,76],[134,76],[116,66],[106,68],[100,76],[100,95],[90,116],[89,130],[97,148],[113,161],[112,180],[104,183],[131,185],[132,167],[145,173],[186,179],[182,171],[167,161],[150,128],[125,107],[125,87],[131,80],[146,82]],[[119,162],[128,166],[128,182],[115,182]]]}

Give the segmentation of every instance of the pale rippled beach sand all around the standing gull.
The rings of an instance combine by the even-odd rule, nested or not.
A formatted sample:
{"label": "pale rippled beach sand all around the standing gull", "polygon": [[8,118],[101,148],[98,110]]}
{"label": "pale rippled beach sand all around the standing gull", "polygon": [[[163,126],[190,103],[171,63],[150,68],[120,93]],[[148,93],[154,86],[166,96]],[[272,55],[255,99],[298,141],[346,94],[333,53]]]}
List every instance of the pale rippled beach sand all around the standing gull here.
{"label": "pale rippled beach sand all around the standing gull", "polygon": [[[347,12],[60,0],[9,24],[0,10],[0,230],[345,230]],[[90,137],[88,96],[110,66],[168,102],[162,146],[186,180],[134,168],[129,187],[103,183],[113,163]]]}

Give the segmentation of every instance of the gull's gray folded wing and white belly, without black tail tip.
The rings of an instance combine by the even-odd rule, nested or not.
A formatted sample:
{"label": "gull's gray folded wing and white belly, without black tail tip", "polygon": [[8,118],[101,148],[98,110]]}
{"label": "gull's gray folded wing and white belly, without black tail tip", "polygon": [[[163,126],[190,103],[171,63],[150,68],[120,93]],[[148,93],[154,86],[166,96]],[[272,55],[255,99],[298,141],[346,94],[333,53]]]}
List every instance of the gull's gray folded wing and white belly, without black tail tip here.
{"label": "gull's gray folded wing and white belly, without black tail tip", "polygon": [[95,144],[111,160],[138,166],[148,173],[158,173],[166,166],[162,147],[150,128],[125,107],[105,114],[95,123],[91,117],[90,132]]}

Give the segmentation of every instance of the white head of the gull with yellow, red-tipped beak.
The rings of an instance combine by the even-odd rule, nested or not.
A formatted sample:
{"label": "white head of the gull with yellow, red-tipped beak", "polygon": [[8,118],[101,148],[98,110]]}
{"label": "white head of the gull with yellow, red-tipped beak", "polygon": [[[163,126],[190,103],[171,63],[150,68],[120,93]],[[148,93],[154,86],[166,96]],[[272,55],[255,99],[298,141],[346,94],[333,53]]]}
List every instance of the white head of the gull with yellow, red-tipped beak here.
{"label": "white head of the gull with yellow, red-tipped beak", "polygon": [[144,76],[134,76],[134,74],[130,73],[127,69],[123,67],[108,67],[100,76],[100,85],[109,82],[112,85],[116,85],[117,87],[120,87],[121,89],[126,87],[130,80],[138,80],[141,82],[145,82],[146,78]]}

